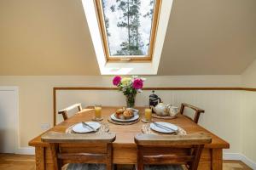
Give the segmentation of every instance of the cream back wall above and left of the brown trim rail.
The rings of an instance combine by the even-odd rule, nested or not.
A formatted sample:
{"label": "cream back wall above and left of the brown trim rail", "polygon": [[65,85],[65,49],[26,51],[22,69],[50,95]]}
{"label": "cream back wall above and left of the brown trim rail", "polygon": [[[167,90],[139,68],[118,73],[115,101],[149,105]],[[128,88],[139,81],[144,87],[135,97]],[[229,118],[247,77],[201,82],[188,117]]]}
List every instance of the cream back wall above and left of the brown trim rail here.
{"label": "cream back wall above and left of the brown trim rail", "polygon": [[[241,83],[240,76],[147,78],[147,87],[239,87]],[[111,79],[112,77],[0,77],[0,86],[20,88],[20,146],[26,147],[30,139],[43,132],[40,129],[42,123],[52,125],[53,87],[112,87]],[[218,114],[212,116],[217,117]],[[215,128],[214,132],[222,134],[221,129]]]}

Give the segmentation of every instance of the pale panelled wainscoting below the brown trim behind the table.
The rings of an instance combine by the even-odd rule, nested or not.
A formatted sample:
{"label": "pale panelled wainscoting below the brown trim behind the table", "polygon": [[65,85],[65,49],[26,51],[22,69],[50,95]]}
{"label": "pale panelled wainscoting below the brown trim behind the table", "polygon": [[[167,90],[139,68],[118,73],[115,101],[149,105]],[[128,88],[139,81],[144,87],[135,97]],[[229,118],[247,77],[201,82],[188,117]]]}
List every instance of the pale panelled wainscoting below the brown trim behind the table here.
{"label": "pale panelled wainscoting below the brown trim behind the table", "polygon": [[[150,94],[152,92],[149,90],[137,94],[136,105],[148,105]],[[241,91],[158,90],[155,94],[158,94],[164,103],[179,106],[186,102],[204,109],[206,112],[201,115],[199,124],[230,143],[230,150],[225,150],[226,152],[241,152]],[[83,106],[125,105],[125,97],[115,90],[57,90],[57,110],[75,103],[82,103]],[[56,122],[62,120],[62,116],[57,115]]]}

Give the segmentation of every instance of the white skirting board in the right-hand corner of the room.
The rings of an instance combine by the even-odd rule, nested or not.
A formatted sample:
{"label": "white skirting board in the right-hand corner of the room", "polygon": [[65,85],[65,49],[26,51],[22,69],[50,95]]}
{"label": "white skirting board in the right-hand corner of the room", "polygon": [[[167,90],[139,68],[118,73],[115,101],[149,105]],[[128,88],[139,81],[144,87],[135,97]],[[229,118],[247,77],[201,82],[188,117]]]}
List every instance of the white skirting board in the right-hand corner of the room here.
{"label": "white skirting board in the right-hand corner of the room", "polygon": [[247,156],[244,156],[240,153],[224,153],[223,154],[224,160],[239,160],[247,164],[248,167],[251,167],[252,169],[256,169],[256,162],[253,160],[247,158]]}

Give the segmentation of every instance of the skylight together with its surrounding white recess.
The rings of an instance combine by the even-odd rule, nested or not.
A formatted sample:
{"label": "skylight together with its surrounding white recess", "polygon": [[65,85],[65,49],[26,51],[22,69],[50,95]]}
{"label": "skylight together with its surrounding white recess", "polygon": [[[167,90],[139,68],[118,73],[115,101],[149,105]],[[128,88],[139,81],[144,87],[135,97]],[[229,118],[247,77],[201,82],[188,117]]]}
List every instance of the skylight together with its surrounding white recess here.
{"label": "skylight together with its surrounding white recess", "polygon": [[82,3],[102,75],[157,74],[172,0]]}

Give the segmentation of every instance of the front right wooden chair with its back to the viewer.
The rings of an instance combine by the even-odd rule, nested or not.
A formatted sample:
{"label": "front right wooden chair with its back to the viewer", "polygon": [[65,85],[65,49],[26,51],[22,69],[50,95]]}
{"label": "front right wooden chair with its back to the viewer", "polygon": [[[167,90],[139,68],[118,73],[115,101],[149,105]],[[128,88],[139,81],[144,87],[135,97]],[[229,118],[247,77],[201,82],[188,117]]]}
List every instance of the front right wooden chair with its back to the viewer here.
{"label": "front right wooden chair with its back to the viewer", "polygon": [[[212,139],[203,133],[189,135],[137,134],[137,170],[196,170],[204,144]],[[147,166],[144,166],[147,165]]]}

